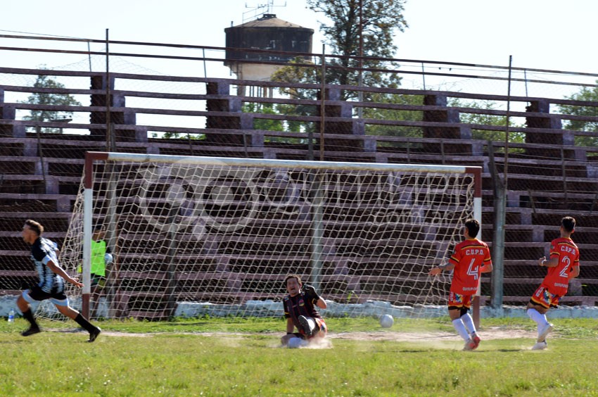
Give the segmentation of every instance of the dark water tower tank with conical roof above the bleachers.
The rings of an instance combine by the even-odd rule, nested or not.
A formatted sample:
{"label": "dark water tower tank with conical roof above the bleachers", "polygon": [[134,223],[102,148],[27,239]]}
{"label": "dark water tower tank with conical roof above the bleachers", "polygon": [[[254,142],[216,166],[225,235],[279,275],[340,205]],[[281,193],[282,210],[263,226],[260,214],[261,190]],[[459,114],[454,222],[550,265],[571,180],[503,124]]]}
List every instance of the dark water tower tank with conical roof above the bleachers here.
{"label": "dark water tower tank with conical roof above the bleachers", "polygon": [[274,14],[264,14],[243,25],[227,27],[224,32],[227,34],[227,61],[224,65],[231,68],[240,80],[269,80],[272,73],[280,68],[280,65],[255,61],[288,62],[295,58],[293,54],[251,53],[242,49],[312,52],[314,30],[286,22]]}

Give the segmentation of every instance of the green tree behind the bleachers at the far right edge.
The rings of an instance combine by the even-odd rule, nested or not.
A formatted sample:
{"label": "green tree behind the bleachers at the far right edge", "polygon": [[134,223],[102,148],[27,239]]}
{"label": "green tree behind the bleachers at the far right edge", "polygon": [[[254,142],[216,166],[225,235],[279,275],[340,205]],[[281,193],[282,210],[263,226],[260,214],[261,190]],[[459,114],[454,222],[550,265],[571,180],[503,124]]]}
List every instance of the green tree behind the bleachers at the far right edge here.
{"label": "green tree behind the bleachers at the far right edge", "polygon": [[[597,80],[598,84],[598,80]],[[579,92],[566,96],[571,101],[594,102],[596,106],[578,105],[559,105],[559,112],[566,115],[592,116],[598,117],[598,87],[583,87]],[[598,132],[598,121],[591,120],[564,120],[563,127],[566,130]],[[575,137],[577,146],[598,146],[598,138],[595,137]]]}

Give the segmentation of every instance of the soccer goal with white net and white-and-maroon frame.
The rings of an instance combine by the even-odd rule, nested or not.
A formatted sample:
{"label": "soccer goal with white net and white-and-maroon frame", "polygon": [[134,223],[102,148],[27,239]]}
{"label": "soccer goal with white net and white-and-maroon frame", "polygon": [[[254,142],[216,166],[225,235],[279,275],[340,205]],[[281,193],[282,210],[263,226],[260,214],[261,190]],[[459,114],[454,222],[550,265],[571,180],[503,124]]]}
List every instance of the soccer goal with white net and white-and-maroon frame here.
{"label": "soccer goal with white net and white-and-maroon frame", "polygon": [[[427,272],[468,218],[481,221],[477,167],[94,152],[61,263],[82,268],[92,317],[278,316],[288,274],[328,316],[431,317],[450,275]],[[97,225],[114,260],[91,294]]]}

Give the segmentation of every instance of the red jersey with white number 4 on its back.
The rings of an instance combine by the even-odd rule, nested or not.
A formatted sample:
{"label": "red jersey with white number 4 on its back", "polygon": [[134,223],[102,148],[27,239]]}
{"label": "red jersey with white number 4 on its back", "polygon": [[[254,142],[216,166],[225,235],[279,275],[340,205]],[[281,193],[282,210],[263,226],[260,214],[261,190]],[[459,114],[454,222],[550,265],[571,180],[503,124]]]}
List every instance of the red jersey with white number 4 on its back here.
{"label": "red jersey with white number 4 on its back", "polygon": [[492,263],[488,244],[478,239],[462,241],[454,247],[449,263],[454,265],[451,292],[475,295],[478,291],[482,265]]}

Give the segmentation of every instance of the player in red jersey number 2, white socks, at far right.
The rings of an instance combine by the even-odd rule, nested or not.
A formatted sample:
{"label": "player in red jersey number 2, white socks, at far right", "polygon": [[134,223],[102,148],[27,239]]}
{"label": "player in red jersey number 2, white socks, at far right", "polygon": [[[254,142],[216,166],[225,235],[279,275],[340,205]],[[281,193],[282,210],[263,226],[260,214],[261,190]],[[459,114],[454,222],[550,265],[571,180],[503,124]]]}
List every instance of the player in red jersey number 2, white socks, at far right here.
{"label": "player in red jersey number 2, white socks, at far right", "polygon": [[573,232],[575,219],[566,216],[561,220],[561,237],[550,243],[550,259],[542,256],[537,260],[538,265],[548,267],[548,273],[528,303],[528,316],[537,323],[537,341],[533,350],[547,347],[546,336],[553,325],[548,322],[546,312],[559,305],[561,296],[567,293],[569,280],[579,275],[579,248],[571,239]]}

